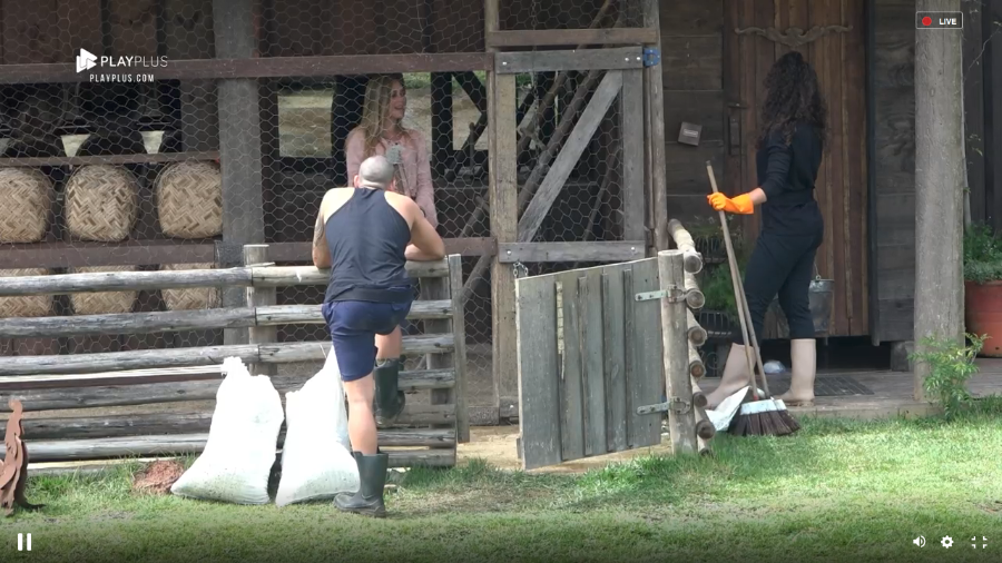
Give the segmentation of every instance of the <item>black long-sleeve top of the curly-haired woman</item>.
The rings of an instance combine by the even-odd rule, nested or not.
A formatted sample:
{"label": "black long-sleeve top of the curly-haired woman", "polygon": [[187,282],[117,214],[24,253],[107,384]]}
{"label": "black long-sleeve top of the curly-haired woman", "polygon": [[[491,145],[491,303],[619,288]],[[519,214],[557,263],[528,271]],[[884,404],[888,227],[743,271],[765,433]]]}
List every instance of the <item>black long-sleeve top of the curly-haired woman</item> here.
{"label": "black long-sleeve top of the curly-haired woman", "polygon": [[774,131],[755,155],[762,205],[763,231],[777,235],[815,235],[824,229],[814,199],[814,182],[821,167],[822,140],[814,126],[799,124],[789,145]]}

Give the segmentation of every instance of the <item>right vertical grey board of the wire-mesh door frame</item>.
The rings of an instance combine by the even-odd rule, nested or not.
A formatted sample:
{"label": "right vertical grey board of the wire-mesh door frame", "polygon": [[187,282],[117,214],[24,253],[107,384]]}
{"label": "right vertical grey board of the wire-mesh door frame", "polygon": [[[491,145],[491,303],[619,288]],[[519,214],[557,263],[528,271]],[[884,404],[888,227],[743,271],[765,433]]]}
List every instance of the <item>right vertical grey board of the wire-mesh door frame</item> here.
{"label": "right vertical grey board of the wire-mesh door frame", "polygon": [[[644,70],[622,73],[622,93],[619,97],[622,124],[622,238],[641,241],[642,253],[647,234],[644,185]],[[630,256],[619,261],[640,258]]]}

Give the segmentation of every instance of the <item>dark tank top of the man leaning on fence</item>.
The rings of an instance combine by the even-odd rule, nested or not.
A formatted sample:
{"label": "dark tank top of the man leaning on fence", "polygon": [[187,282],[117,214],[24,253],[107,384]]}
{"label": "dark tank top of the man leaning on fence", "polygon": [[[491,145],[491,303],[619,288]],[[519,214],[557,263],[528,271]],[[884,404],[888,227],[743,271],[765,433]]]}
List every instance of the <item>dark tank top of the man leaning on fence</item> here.
{"label": "dark tank top of the man leaning on fence", "polygon": [[354,188],[325,224],[331,282],[324,302],[401,303],[413,298],[404,250],[407,221],[381,189]]}

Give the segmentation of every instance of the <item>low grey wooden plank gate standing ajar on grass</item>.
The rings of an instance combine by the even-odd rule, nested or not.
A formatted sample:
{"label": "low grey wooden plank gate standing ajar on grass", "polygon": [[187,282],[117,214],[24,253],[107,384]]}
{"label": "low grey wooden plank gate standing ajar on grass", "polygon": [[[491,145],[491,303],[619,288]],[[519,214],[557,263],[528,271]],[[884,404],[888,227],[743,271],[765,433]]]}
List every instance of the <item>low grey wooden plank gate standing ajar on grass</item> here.
{"label": "low grey wooden plank gate standing ajar on grass", "polygon": [[661,442],[657,258],[519,278],[519,441],[524,470]]}

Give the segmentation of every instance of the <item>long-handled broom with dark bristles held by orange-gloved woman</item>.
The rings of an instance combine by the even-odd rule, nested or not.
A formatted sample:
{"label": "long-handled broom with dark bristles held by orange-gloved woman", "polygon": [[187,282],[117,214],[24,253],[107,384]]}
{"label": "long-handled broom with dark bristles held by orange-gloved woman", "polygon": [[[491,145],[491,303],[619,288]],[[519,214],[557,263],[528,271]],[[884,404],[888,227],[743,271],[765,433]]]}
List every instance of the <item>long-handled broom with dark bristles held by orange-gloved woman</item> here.
{"label": "long-handled broom with dark bristles held by orange-gloved woman", "polygon": [[[714,175],[713,162],[707,160],[706,172],[709,176],[710,187],[714,194],[718,194],[717,179]],[[748,394],[740,409],[730,422],[729,432],[736,436],[785,436],[799,429],[800,425],[790,416],[789,411],[782,401],[770,398],[769,384],[765,378],[762,354],[758,350],[758,339],[755,326],[752,324],[752,312],[745,299],[745,287],[741,282],[741,273],[737,266],[737,257],[730,240],[730,229],[727,226],[725,213],[717,211],[720,217],[720,229],[724,233],[724,245],[727,248],[727,263],[730,267],[730,282],[734,288],[734,300],[738,308],[738,320],[741,326],[741,337],[745,342],[745,360],[748,366]],[[759,396],[755,385],[755,367],[758,366],[764,396]]]}

